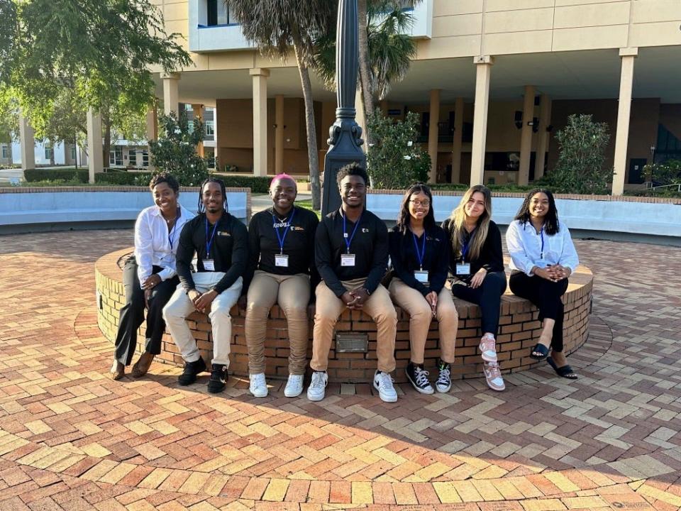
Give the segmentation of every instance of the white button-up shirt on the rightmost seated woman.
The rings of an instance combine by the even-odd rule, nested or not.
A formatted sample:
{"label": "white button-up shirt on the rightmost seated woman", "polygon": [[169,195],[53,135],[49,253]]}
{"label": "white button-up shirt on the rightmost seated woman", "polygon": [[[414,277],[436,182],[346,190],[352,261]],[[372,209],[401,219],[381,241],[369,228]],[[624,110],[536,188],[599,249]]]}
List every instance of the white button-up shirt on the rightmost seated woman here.
{"label": "white button-up shirt on the rightmost seated woman", "polygon": [[558,222],[558,232],[553,235],[543,233],[544,250],[542,258],[541,233],[538,233],[530,221],[521,224],[514,220],[506,229],[506,246],[511,256],[511,270],[520,270],[526,275],[533,275],[531,270],[546,268],[548,265],[561,265],[570,268],[570,273],[580,264],[572,243],[570,231],[565,224]]}

